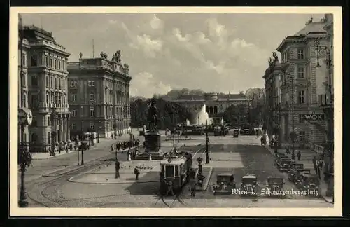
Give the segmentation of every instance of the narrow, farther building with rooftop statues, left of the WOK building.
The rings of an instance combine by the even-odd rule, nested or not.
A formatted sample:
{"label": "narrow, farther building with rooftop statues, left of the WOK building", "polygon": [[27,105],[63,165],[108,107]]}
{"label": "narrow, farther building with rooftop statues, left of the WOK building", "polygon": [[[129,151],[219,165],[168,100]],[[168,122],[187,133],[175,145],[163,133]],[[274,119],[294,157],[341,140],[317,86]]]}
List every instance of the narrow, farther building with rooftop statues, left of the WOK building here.
{"label": "narrow, farther building with rooftop statues, left of the WOK building", "polygon": [[265,70],[265,126],[269,136],[274,133],[281,137],[279,125],[281,123],[278,104],[281,103],[281,62],[276,55],[270,58],[269,67]]}

